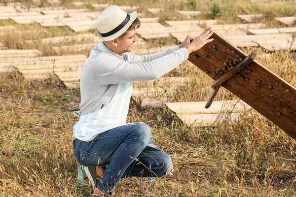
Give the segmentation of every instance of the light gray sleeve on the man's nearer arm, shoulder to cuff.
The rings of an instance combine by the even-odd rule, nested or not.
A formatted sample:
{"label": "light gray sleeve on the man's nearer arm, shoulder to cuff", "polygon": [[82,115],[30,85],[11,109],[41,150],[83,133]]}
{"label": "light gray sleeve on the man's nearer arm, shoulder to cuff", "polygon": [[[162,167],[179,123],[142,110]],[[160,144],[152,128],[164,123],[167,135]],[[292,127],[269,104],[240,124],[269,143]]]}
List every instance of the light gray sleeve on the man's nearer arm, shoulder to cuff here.
{"label": "light gray sleeve on the man's nearer arm, shoulder to cuff", "polygon": [[97,61],[94,72],[101,85],[154,80],[183,63],[188,56],[185,48],[149,62],[129,63],[110,55]]}

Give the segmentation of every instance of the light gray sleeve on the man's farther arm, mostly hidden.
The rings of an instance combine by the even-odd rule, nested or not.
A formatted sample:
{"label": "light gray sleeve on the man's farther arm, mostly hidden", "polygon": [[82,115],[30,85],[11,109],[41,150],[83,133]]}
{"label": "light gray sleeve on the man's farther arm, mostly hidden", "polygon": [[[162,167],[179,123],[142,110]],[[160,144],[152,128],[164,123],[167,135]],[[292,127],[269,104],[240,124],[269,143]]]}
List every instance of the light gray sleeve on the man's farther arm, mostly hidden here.
{"label": "light gray sleeve on the man's farther arm, mostly hidden", "polygon": [[127,62],[129,63],[134,63],[134,62],[149,62],[152,60],[156,60],[158,58],[161,58],[163,56],[166,56],[168,54],[173,53],[174,51],[179,50],[179,45],[175,46],[175,47],[170,47],[164,51],[158,52],[158,53],[154,53],[154,54],[149,54],[149,55],[135,55],[135,54],[130,54],[130,53],[126,53],[126,58],[127,58]]}

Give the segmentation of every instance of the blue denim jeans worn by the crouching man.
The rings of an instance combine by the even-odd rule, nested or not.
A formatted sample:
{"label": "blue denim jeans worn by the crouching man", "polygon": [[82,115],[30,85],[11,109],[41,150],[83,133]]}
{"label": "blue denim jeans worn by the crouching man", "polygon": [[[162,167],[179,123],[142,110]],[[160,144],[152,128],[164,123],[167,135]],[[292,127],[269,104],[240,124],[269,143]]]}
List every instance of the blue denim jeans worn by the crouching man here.
{"label": "blue denim jeans worn by the crouching man", "polygon": [[173,165],[169,155],[147,146],[150,136],[146,124],[136,123],[100,133],[89,142],[76,138],[74,157],[84,166],[103,166],[104,175],[97,187],[109,193],[121,177],[161,177]]}

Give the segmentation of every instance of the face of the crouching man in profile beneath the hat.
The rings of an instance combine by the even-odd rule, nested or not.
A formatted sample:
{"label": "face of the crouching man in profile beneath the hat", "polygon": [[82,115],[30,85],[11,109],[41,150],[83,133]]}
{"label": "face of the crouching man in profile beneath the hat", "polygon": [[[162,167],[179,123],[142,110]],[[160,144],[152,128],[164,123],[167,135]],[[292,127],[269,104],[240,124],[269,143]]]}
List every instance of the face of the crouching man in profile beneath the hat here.
{"label": "face of the crouching man in profile beneath the hat", "polygon": [[123,38],[117,38],[117,51],[118,53],[126,53],[131,52],[133,44],[138,41],[138,37],[136,35],[136,30],[128,31],[127,34]]}

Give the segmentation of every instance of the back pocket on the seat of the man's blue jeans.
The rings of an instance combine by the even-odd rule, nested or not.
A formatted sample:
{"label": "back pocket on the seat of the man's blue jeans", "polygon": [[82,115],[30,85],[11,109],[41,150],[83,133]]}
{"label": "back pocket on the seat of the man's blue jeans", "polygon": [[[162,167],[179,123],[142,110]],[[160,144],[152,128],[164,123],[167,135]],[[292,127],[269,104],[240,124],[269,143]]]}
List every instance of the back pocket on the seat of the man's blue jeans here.
{"label": "back pocket on the seat of the man's blue jeans", "polygon": [[79,150],[80,162],[84,166],[103,165],[104,161],[99,153]]}

